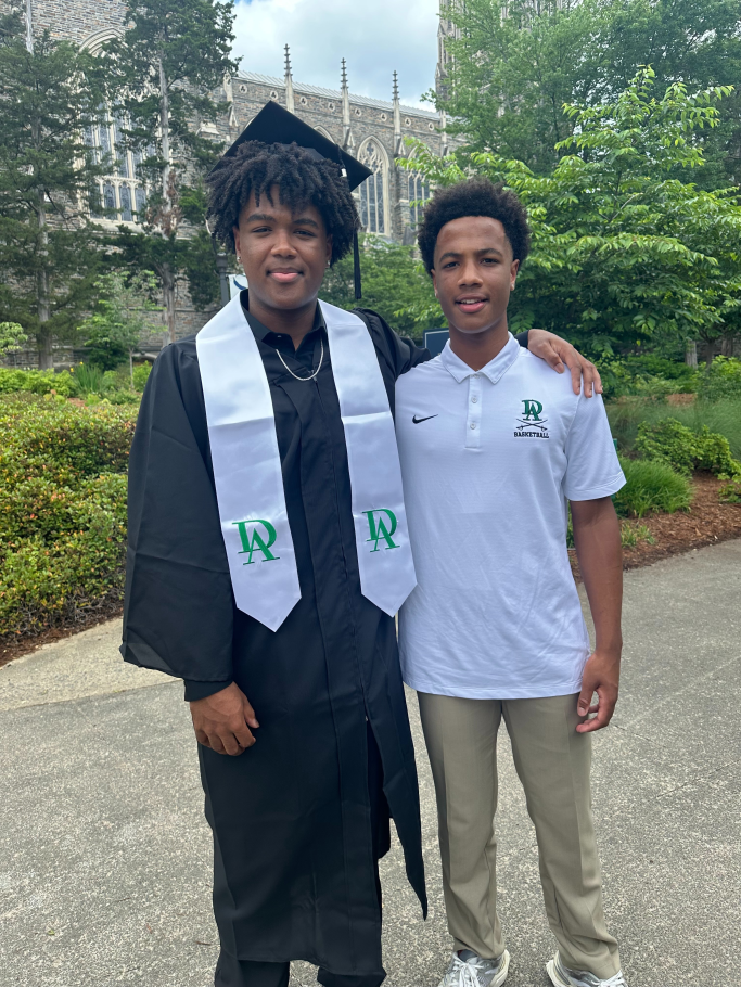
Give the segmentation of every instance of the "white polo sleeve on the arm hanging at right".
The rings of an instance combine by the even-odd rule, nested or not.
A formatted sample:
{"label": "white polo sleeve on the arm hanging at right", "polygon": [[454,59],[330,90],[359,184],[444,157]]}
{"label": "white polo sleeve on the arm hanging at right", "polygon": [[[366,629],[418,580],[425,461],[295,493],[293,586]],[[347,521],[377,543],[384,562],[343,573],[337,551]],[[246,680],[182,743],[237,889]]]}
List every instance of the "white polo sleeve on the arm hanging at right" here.
{"label": "white polo sleeve on the arm hanging at right", "polygon": [[563,492],[568,500],[598,500],[625,486],[601,395],[579,395],[566,437]]}

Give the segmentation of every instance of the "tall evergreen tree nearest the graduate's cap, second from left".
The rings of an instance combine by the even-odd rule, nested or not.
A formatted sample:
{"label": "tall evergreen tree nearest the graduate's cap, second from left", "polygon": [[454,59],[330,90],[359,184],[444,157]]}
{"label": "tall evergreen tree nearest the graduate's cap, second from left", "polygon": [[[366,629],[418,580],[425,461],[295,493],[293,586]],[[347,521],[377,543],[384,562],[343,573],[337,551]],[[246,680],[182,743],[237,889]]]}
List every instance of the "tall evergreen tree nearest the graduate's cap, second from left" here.
{"label": "tall evergreen tree nearest the graduate's cap, second from left", "polygon": [[[108,99],[128,120],[125,138],[143,155],[141,174],[151,185],[146,216],[139,217],[144,232],[122,229],[118,246],[128,262],[156,273],[170,341],[178,278],[205,264],[205,229],[192,228],[193,196],[187,216],[183,204],[221,146],[215,124],[226,104],[213,93],[237,70],[230,56],[233,20],[231,0],[129,0],[126,30],[105,47]],[[213,268],[213,257],[208,262]],[[203,289],[201,279],[196,294]]]}

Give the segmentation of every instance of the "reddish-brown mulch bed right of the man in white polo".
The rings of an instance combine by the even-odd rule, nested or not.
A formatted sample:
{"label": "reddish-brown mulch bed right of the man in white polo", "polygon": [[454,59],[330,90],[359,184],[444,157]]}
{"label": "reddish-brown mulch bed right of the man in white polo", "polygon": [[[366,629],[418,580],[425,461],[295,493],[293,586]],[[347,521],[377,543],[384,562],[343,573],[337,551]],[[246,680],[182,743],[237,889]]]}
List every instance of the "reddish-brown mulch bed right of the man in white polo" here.
{"label": "reddish-brown mulch bed right of the man in white polo", "polygon": [[[729,538],[741,538],[741,504],[723,503],[718,490],[723,486],[715,476],[699,474],[692,480],[694,499],[689,511],[676,514],[649,514],[634,525],[646,525],[654,543],[639,541],[623,549],[623,568],[635,569],[652,565],[660,559],[679,555],[707,544],[718,544]],[[571,551],[574,578],[582,581],[576,553]]]}

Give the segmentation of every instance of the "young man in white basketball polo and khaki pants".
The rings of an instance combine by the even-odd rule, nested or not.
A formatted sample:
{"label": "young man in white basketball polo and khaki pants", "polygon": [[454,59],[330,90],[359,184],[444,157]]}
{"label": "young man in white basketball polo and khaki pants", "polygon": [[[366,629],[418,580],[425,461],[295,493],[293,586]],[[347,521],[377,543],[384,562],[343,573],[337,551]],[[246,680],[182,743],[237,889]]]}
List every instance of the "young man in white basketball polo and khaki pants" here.
{"label": "young man in white basketball polo and khaki pants", "polygon": [[[396,428],[418,587],[399,620],[437,793],[453,953],[440,987],[499,987],[497,731],[535,824],[557,987],[625,987],[602,910],[590,733],[617,700],[625,483],[600,397],[518,346],[507,305],[529,246],[516,196],[482,179],[439,190],[419,233],[450,328],[400,377]],[[566,551],[567,505],[595,620],[590,654]],[[598,700],[592,705],[592,695]]]}

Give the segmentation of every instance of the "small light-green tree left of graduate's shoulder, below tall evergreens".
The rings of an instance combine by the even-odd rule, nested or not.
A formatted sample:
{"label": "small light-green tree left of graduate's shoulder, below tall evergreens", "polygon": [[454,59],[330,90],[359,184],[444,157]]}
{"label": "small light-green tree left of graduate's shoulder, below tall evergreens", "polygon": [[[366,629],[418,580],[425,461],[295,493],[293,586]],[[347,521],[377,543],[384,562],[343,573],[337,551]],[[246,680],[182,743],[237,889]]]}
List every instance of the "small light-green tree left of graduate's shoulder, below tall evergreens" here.
{"label": "small light-green tree left of graduate's shoulder, below tall evergreens", "polygon": [[133,356],[154,326],[149,312],[159,311],[152,302],[157,281],[151,271],[128,277],[123,271],[104,274],[95,285],[95,310],[80,325],[88,359],[101,370],[114,370],[128,360],[133,390]]}

